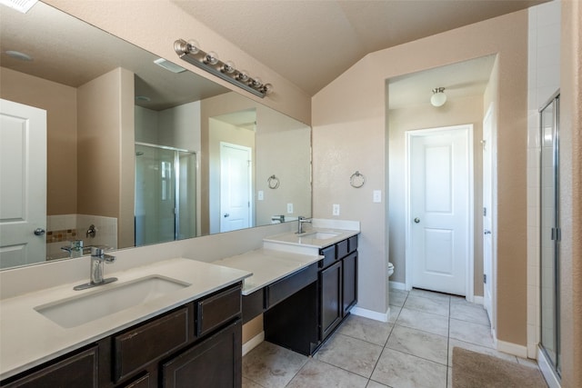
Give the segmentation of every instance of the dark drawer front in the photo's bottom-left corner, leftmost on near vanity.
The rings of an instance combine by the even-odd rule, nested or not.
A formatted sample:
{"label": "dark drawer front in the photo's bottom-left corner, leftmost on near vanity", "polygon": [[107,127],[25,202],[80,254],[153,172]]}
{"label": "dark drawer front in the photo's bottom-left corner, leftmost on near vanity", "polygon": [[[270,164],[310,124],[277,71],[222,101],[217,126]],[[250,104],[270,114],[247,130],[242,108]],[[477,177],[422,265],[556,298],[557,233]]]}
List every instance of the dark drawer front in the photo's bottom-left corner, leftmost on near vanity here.
{"label": "dark drawer front in the photo's bottom-left corner, leftmost on near vanity", "polygon": [[97,387],[97,351],[93,346],[66,357],[3,387]]}

